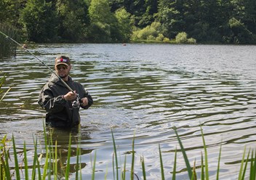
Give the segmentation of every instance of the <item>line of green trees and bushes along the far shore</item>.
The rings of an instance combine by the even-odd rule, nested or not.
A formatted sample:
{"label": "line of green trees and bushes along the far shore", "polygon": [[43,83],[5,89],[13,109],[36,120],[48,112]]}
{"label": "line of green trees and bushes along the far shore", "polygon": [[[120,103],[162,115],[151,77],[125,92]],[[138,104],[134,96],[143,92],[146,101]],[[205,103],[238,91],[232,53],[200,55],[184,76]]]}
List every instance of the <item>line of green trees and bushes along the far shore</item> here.
{"label": "line of green trees and bushes along the far shore", "polygon": [[36,43],[256,44],[255,0],[1,0],[0,28]]}

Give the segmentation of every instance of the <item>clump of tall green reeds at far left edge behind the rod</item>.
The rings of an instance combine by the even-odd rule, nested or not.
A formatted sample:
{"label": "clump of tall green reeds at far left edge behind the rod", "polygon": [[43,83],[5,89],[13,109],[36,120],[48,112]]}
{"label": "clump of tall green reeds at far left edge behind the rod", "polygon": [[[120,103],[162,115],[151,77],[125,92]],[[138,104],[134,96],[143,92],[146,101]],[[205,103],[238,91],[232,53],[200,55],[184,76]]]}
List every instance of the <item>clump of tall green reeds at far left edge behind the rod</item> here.
{"label": "clump of tall green reeds at far left edge behind the rod", "polygon": [[[9,25],[3,25],[0,23],[0,30],[7,34],[7,36],[14,38],[14,39],[19,39],[17,30]],[[0,59],[3,57],[12,57],[16,56],[16,49],[17,45],[13,44],[11,41],[9,41],[5,36],[0,34]]]}

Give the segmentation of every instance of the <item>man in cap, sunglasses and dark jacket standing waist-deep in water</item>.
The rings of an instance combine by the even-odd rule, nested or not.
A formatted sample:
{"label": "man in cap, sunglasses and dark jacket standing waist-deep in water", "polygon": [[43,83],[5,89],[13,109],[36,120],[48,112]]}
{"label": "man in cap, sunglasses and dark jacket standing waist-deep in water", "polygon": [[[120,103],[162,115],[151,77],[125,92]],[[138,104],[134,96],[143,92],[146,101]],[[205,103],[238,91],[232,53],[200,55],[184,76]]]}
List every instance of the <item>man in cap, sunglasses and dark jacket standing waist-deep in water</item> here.
{"label": "man in cap, sunglasses and dark jacket standing waist-deep in water", "polygon": [[[49,81],[44,85],[43,89],[41,89],[38,103],[47,111],[47,126],[73,128],[80,123],[79,108],[88,109],[93,103],[91,95],[88,94],[81,83],[72,80],[69,75],[70,70],[71,61],[69,57],[56,57],[56,74],[59,75],[73,91],[70,91],[55,73],[52,73]],[[77,97],[81,99],[78,101]]]}

